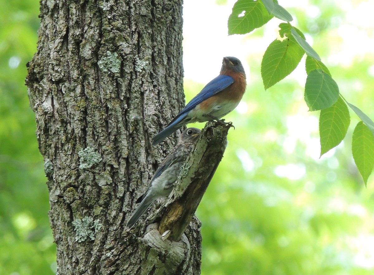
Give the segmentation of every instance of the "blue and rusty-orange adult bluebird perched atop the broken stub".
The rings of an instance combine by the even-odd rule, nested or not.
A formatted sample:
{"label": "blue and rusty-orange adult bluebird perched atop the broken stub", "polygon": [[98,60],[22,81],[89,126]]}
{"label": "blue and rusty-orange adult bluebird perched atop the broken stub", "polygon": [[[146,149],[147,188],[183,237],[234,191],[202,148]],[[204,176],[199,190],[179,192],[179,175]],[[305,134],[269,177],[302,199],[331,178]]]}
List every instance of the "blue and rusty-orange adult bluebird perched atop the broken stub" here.
{"label": "blue and rusty-orange adult bluebird perched atop the broken stub", "polygon": [[240,60],[232,56],[223,57],[220,75],[206,84],[168,126],[152,138],[153,145],[160,143],[187,123],[220,121],[220,118],[239,104],[245,87],[245,71]]}

